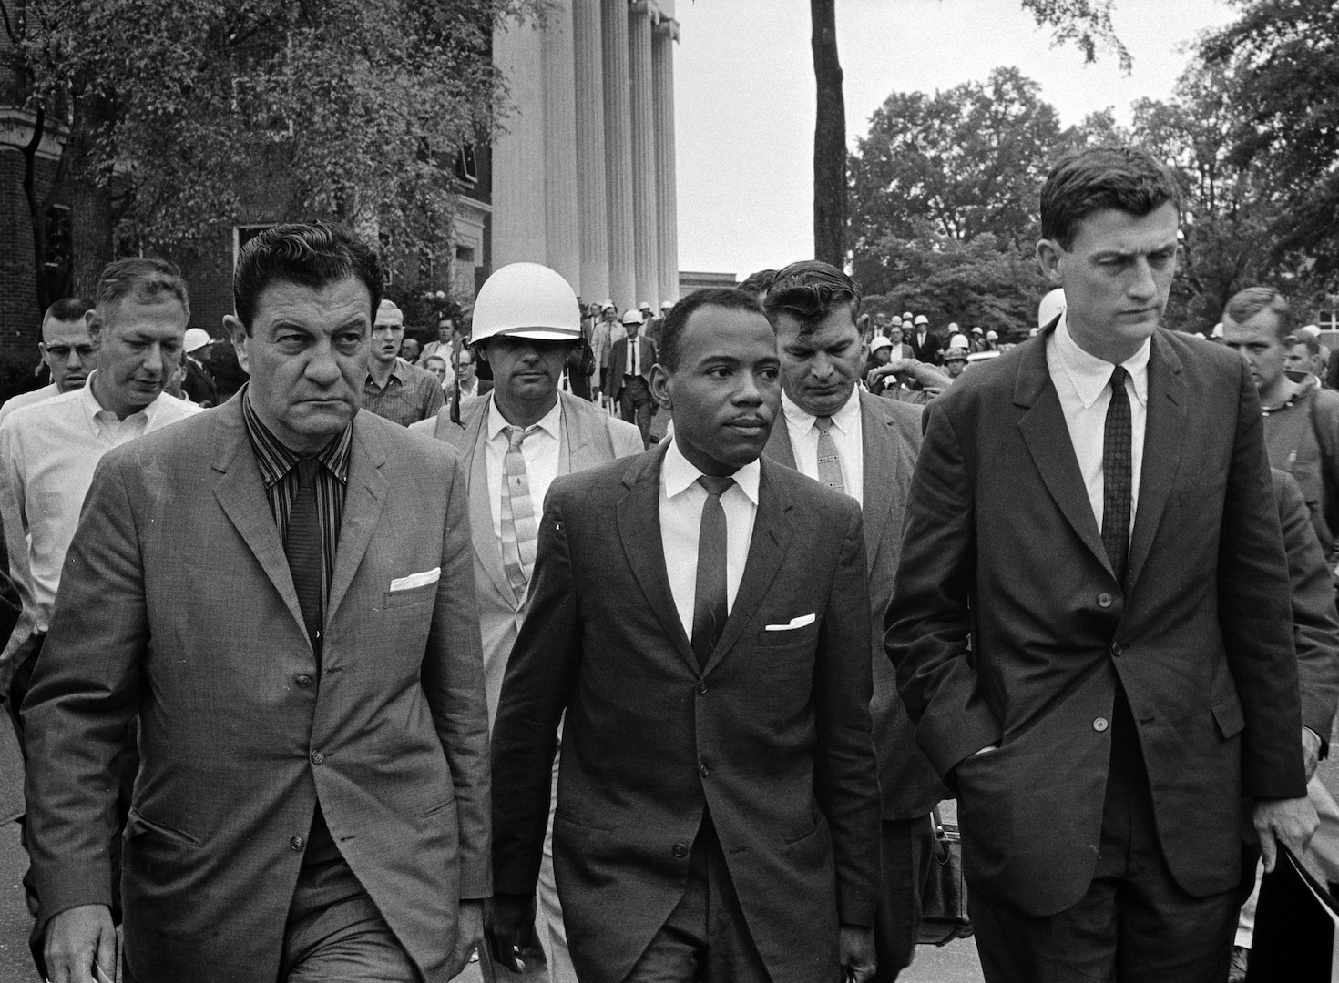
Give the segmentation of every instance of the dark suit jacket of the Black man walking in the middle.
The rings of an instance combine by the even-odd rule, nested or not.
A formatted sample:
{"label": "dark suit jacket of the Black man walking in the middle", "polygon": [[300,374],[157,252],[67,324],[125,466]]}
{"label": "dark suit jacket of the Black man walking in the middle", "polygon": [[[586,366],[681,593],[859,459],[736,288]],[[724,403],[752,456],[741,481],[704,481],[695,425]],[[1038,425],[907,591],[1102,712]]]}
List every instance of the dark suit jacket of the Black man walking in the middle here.
{"label": "dark suit jacket of the Black man walking in the middle", "polygon": [[549,489],[493,730],[494,884],[534,891],[566,710],[553,860],[577,975],[632,968],[710,808],[773,980],[836,979],[838,917],[872,925],[878,877],[860,511],[763,460],[747,566],[702,671],[665,574],[664,452]]}

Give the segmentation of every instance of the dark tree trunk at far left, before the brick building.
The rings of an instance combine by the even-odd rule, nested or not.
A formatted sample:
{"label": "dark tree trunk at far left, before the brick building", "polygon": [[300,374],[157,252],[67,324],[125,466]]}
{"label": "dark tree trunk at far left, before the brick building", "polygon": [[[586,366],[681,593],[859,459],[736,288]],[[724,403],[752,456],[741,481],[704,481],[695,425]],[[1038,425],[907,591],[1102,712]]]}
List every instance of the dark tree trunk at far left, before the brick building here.
{"label": "dark tree trunk at far left, before the brick building", "polygon": [[83,92],[74,100],[74,120],[66,142],[70,189],[71,289],[92,298],[98,277],[112,259],[111,166],[98,148],[114,119],[115,106],[104,95]]}

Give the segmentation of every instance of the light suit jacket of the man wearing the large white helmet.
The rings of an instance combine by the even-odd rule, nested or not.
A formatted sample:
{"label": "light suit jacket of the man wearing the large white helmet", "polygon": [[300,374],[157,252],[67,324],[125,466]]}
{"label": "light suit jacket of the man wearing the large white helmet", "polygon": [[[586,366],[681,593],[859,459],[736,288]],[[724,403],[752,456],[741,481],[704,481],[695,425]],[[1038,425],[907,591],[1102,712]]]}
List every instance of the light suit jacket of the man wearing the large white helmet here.
{"label": "light suit jacket of the man wearing the large white helmet", "polygon": [[[562,437],[558,441],[558,473],[570,475],[616,457],[641,453],[641,433],[631,423],[609,416],[595,404],[560,392]],[[470,489],[470,528],[474,531],[474,588],[479,602],[479,631],[483,635],[483,683],[487,693],[489,722],[497,716],[498,694],[516,634],[525,619],[526,598],[517,596],[502,567],[502,544],[493,530],[489,502],[489,468],[485,424],[491,396],[461,404],[461,423],[453,424],[443,409],[435,420],[412,424],[411,431],[432,433],[455,448],[465,464]],[[542,503],[537,503],[541,504]]]}

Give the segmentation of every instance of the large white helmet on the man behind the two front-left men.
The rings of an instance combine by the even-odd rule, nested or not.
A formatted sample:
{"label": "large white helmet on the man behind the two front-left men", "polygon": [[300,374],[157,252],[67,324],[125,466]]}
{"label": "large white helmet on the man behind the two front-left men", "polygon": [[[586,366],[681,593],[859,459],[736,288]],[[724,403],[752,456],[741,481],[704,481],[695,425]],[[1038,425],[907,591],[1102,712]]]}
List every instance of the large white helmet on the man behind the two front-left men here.
{"label": "large white helmet on the man behind the two front-left men", "polygon": [[577,294],[560,273],[540,263],[509,263],[483,281],[474,298],[470,344],[506,334],[534,341],[581,337]]}

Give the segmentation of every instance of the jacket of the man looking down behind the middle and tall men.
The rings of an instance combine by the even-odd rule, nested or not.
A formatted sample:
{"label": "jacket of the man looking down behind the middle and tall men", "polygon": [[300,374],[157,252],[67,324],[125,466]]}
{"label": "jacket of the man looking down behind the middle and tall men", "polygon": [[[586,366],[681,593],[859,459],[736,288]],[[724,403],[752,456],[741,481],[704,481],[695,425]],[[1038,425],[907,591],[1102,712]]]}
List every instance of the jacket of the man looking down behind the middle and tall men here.
{"label": "jacket of the man looking down behind the middle and tall men", "polygon": [[[902,550],[902,512],[921,443],[921,408],[860,393],[864,449],[865,560],[869,571],[870,651],[874,698],[869,705],[878,756],[878,788],[885,820],[929,814],[948,794],[935,769],[916,746],[915,729],[897,694],[897,673],[884,650],[884,611],[893,598],[893,574]],[[785,419],[773,427],[763,452],[787,468],[795,451]]]}

